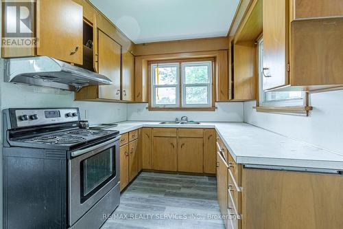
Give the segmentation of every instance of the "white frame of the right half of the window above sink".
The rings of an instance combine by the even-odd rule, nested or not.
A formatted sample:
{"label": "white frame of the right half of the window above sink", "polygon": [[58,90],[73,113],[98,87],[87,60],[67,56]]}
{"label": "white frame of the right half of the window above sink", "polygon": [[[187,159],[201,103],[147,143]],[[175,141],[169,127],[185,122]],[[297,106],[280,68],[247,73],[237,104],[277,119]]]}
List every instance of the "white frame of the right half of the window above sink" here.
{"label": "white frame of the right half of the window above sink", "polygon": [[[197,62],[184,62],[182,65],[182,107],[212,107],[212,61],[197,61]],[[186,83],[186,67],[189,66],[207,66],[207,74],[209,82],[207,83]],[[187,87],[206,87],[207,88],[207,103],[206,104],[187,104],[186,103],[186,88]]]}

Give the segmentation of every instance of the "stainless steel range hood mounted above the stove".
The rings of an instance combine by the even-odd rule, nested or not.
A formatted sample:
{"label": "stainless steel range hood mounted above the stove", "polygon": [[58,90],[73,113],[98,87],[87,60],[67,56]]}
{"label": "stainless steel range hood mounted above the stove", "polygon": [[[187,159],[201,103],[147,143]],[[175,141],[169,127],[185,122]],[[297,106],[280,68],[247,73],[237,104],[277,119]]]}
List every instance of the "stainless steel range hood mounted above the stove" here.
{"label": "stainless steel range hood mounted above the stove", "polygon": [[78,91],[88,85],[112,84],[106,76],[49,56],[5,60],[5,82],[54,87],[69,91]]}

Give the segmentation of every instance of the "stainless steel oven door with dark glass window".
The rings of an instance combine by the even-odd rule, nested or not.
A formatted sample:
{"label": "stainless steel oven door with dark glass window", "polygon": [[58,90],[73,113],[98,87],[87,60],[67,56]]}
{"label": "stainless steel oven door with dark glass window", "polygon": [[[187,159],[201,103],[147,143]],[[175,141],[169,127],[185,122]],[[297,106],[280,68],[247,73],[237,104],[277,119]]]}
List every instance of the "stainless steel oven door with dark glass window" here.
{"label": "stainless steel oven door with dark glass window", "polygon": [[119,138],[71,152],[68,171],[69,226],[118,184]]}

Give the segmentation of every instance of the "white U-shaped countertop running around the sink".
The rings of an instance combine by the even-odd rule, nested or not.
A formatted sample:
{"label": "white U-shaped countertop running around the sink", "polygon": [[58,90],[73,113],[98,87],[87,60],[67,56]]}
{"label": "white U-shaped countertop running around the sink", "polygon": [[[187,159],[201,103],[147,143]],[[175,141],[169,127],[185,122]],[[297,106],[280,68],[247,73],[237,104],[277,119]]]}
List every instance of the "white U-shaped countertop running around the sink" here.
{"label": "white U-shaped countertop running around the sink", "polygon": [[126,133],[142,127],[215,128],[237,163],[343,170],[343,153],[322,149],[244,122],[158,123],[119,122],[111,130]]}

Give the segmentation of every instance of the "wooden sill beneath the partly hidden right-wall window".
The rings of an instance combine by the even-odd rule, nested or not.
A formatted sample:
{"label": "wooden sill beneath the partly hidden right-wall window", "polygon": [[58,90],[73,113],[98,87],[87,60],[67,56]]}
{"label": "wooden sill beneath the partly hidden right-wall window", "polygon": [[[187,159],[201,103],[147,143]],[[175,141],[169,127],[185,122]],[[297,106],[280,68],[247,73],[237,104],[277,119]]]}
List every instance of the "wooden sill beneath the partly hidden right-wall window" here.
{"label": "wooden sill beneath the partly hidden right-wall window", "polygon": [[308,116],[309,111],[313,109],[313,107],[253,107],[256,109],[257,112],[265,112],[265,113],[282,113],[282,114],[292,114],[292,115],[300,115],[300,116]]}

